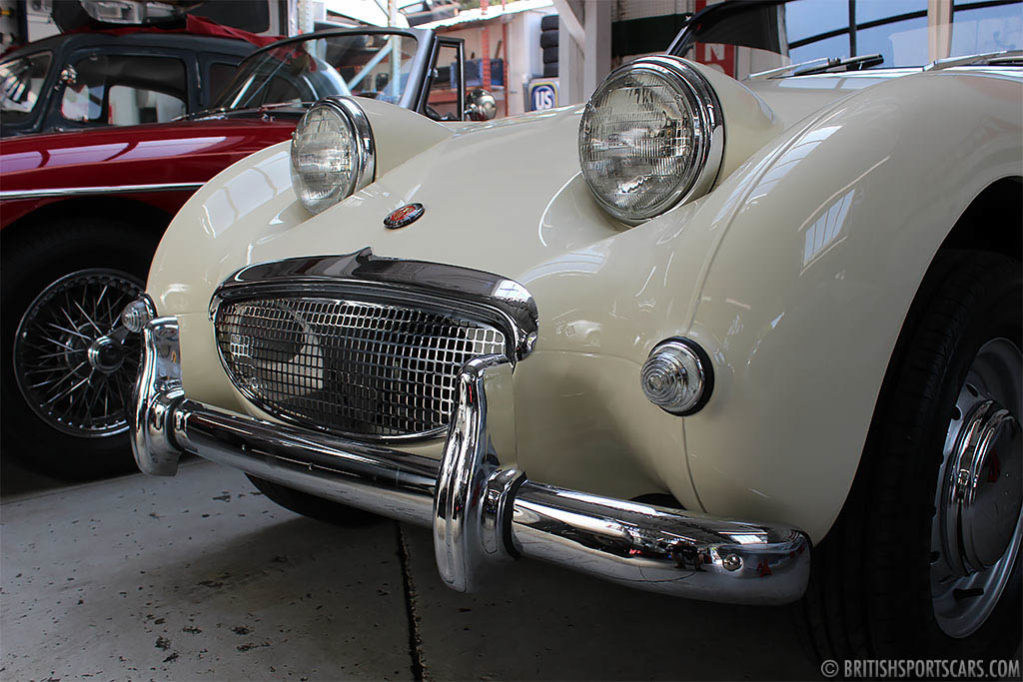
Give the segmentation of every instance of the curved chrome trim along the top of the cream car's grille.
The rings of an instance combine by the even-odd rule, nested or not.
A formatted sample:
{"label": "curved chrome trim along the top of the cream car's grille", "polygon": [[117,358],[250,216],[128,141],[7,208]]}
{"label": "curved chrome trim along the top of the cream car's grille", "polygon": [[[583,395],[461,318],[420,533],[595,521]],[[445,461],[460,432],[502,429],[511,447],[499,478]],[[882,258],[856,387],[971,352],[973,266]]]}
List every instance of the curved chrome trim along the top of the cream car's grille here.
{"label": "curved chrome trim along the top of the cream car's grille", "polygon": [[354,254],[292,258],[241,268],[214,291],[210,319],[216,319],[222,301],[267,292],[358,294],[385,303],[413,301],[475,318],[484,314],[508,338],[513,362],[532,353],[539,328],[536,303],[519,282],[443,263],[381,258],[368,246]]}

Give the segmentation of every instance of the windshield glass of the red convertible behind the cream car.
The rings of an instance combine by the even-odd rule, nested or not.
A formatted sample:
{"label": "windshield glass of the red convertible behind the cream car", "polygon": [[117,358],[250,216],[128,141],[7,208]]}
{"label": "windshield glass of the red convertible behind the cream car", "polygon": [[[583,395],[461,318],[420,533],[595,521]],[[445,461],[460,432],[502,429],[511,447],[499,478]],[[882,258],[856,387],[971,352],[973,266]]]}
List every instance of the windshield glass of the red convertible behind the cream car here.
{"label": "windshield glass of the red convertible behind the cream car", "polygon": [[214,107],[315,102],[328,95],[397,104],[407,87],[416,47],[411,36],[382,33],[288,42],[242,61]]}

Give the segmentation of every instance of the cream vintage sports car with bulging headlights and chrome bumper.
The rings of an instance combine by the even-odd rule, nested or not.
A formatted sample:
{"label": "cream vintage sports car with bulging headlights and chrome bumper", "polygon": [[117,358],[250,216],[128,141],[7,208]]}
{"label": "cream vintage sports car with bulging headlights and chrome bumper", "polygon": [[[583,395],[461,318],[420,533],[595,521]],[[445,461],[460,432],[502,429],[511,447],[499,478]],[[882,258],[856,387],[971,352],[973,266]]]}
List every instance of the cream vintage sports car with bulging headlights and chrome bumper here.
{"label": "cream vintage sports car with bulging headlights and chrome bumper", "polygon": [[1021,5],[806,4],[715,5],[582,106],[311,107],[122,316],[139,466],[432,527],[456,590],[535,557],[798,601],[824,657],[1011,654]]}

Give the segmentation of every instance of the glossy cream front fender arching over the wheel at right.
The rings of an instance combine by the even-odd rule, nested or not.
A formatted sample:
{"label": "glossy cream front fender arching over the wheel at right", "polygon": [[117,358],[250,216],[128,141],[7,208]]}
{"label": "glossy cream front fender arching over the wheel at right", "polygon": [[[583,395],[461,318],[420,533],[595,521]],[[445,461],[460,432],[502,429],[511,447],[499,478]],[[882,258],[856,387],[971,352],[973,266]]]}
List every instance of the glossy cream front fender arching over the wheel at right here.
{"label": "glossy cream front fender arching over the wheel at right", "polygon": [[716,371],[684,424],[707,511],[828,532],[935,253],[986,186],[1023,174],[1021,96],[990,75],[894,79],[731,185],[690,329]]}

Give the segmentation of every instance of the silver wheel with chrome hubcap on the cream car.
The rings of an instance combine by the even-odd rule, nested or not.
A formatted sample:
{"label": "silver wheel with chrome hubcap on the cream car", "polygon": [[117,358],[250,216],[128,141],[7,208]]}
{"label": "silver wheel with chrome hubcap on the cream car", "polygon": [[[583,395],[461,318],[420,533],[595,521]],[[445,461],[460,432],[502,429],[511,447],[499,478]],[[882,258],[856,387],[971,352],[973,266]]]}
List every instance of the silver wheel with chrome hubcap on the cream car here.
{"label": "silver wheel with chrome hubcap on the cream car", "polygon": [[1023,356],[1007,338],[977,353],[945,435],[931,527],[938,625],[967,637],[990,616],[1023,539]]}

